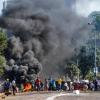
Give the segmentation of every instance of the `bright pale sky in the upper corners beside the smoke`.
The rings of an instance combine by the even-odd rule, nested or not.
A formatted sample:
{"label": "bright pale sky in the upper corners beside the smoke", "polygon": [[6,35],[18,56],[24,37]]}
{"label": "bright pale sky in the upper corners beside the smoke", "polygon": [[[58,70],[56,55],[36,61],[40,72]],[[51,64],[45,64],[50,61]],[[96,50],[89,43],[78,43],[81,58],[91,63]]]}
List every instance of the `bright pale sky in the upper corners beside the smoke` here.
{"label": "bright pale sky in the upper corners beside the smoke", "polygon": [[[2,10],[2,2],[0,0],[0,13]],[[73,0],[72,0],[73,1]],[[100,0],[76,0],[76,4],[73,6],[77,14],[87,17],[93,11],[100,11]]]}

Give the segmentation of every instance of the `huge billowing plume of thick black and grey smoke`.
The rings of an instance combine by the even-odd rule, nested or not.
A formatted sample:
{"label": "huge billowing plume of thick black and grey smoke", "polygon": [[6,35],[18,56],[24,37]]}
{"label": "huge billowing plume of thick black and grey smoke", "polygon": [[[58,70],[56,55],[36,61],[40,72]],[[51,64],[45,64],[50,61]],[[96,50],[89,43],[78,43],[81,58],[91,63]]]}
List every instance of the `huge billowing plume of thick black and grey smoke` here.
{"label": "huge billowing plume of thick black and grey smoke", "polygon": [[[72,9],[72,0],[8,0],[0,20],[10,30],[9,59],[22,78],[59,75],[59,63],[69,59],[89,32],[87,19]],[[70,6],[69,6],[70,5]],[[41,66],[43,66],[41,68]]]}

